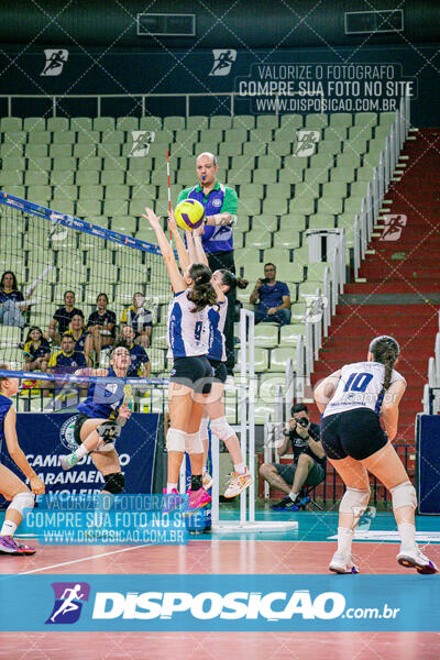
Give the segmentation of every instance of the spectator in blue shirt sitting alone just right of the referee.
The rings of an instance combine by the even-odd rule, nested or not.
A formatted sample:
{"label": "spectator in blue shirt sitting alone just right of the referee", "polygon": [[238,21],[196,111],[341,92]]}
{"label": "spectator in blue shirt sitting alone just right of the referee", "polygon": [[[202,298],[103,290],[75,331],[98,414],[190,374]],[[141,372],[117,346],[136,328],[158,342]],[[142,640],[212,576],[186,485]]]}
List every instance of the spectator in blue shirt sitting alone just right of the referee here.
{"label": "spectator in blue shirt sitting alone just right of the referee", "polygon": [[290,292],[285,282],[276,279],[274,264],[264,264],[264,279],[257,279],[249,301],[251,305],[258,302],[255,323],[286,326],[290,322]]}

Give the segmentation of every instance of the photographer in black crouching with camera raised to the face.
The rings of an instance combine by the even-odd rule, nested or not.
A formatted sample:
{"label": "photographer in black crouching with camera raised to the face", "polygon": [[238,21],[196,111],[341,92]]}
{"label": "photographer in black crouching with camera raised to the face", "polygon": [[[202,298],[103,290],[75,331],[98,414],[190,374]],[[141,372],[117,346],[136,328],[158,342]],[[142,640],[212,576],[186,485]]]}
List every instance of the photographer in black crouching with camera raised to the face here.
{"label": "photographer in black crouching with camera raised to the face", "polygon": [[260,475],[271,486],[286,493],[286,497],[272,505],[275,512],[296,512],[306,503],[299,493],[301,487],[317,486],[326,477],[326,453],[320,442],[320,428],[310,422],[306,404],[296,404],[292,407],[292,418],[283,431],[284,441],[278,448],[278,457],[287,453],[289,447],[294,454],[290,465],[282,463],[263,463]]}

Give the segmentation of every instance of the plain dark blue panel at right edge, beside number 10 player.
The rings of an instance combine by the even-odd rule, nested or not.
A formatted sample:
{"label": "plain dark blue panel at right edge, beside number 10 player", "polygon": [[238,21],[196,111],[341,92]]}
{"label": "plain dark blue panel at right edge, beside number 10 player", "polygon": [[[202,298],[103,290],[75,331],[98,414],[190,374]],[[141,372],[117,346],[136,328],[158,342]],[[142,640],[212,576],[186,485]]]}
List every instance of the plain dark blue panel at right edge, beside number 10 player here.
{"label": "plain dark blue panel at right edge, beside number 10 player", "polygon": [[418,512],[440,514],[440,417],[420,415],[417,422]]}

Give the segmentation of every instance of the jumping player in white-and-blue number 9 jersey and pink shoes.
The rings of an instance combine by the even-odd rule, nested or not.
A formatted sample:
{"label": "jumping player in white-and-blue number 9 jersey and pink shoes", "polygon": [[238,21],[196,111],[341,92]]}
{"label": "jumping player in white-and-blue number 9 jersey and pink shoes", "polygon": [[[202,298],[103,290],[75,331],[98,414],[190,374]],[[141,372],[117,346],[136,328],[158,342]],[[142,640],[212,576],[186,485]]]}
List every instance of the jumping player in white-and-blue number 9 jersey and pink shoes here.
{"label": "jumping player in white-and-blue number 9 jersey and pink shoes", "polygon": [[208,362],[208,310],[217,302],[211,271],[195,263],[180,275],[174,251],[155,213],[146,208],[172,283],[174,298],[168,308],[168,358],[173,358],[169,377],[169,428],[166,435],[168,479],[166,491],[178,494],[177,483],[184,454],[189,454],[191,487],[189,508],[206,506],[210,496],[202,485],[204,443],[199,428],[206,395],[211,391],[212,367]]}

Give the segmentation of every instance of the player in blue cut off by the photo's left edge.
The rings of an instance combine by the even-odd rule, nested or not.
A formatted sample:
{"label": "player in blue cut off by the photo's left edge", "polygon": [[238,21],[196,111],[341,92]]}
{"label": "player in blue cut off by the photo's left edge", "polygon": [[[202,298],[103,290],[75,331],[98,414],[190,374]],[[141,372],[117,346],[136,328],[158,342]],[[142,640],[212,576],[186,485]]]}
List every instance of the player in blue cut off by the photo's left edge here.
{"label": "player in blue cut off by the photo's left edge", "polygon": [[[8,371],[7,364],[0,370]],[[9,468],[0,464],[0,493],[11,504],[7,508],[0,530],[0,554],[34,554],[35,549],[18,543],[13,536],[23,519],[24,509],[34,506],[34,494],[43,495],[44,483],[32,470],[16,439],[16,415],[11,397],[19,392],[19,378],[0,376],[0,449],[2,440],[7,442],[9,455],[30,481],[31,490]],[[32,493],[31,493],[32,491]]]}

